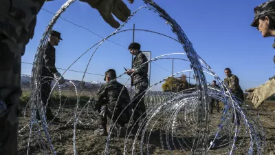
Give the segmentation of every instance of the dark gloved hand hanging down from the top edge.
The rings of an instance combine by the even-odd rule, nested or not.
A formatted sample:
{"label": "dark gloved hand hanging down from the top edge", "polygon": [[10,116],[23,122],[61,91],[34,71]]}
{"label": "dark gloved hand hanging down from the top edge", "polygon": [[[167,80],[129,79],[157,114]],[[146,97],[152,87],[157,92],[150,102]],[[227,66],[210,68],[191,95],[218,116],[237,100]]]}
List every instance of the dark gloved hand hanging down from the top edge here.
{"label": "dark gloved hand hanging down from the top edge", "polygon": [[[120,23],[115,21],[113,15],[120,19],[120,21],[126,21],[131,15],[131,10],[127,8],[126,4],[122,0],[80,0],[89,3],[91,8],[96,8],[104,21],[109,23],[113,28],[119,28]],[[129,0],[133,3],[134,0]],[[112,15],[113,13],[113,15]]]}

